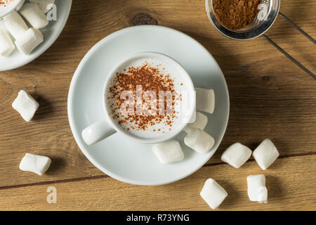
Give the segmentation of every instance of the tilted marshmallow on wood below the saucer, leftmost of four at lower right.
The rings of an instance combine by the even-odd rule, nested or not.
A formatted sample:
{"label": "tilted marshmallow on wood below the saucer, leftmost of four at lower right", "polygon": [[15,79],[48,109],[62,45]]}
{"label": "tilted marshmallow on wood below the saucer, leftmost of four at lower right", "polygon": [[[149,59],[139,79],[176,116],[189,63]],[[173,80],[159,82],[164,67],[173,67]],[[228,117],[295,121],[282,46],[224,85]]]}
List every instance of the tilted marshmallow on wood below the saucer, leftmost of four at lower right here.
{"label": "tilted marshmallow on wood below the saucer, leftmost of four at lower right", "polygon": [[213,210],[223,203],[223,200],[228,195],[225,189],[211,178],[205,181],[202,191],[199,194]]}

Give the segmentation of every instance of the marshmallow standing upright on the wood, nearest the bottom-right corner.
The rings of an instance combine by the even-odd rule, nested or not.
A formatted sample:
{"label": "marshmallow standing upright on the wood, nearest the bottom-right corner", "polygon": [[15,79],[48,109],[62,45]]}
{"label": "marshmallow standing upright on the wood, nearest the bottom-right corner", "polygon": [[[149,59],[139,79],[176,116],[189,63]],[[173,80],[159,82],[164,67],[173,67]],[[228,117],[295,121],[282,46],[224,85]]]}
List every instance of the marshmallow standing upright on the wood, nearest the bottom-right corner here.
{"label": "marshmallow standing upright on the wood, nearest the bottom-right corner", "polygon": [[268,203],[268,190],[265,187],[265,175],[250,175],[247,177],[248,196],[252,202]]}

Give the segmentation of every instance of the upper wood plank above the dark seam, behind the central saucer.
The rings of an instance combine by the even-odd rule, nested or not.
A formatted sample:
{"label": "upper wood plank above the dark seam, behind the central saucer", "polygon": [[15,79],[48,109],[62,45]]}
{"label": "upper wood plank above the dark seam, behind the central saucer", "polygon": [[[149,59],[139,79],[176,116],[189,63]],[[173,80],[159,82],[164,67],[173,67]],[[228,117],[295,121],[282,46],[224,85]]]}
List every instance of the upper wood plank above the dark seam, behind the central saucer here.
{"label": "upper wood plank above the dark seam, behind the central saucer", "polygon": [[[281,11],[315,37],[314,5],[313,0],[288,0]],[[0,72],[0,186],[103,175],[74,142],[67,120],[68,88],[81,58],[96,42],[143,23],[189,34],[223,69],[230,90],[230,121],[223,143],[208,164],[220,162],[223,150],[236,141],[254,149],[267,137],[281,155],[315,153],[315,81],[262,38],[233,41],[218,34],[206,16],[204,1],[96,0],[88,8],[84,1],[73,1],[65,30],[46,53],[22,68]],[[282,23],[278,18],[268,32],[270,37],[279,41],[286,32],[299,41],[295,47],[285,42],[287,38],[280,44],[315,71],[315,49],[301,35],[291,36],[291,27]],[[20,89],[29,91],[40,104],[30,123],[11,108]],[[48,174],[39,177],[20,172],[18,165],[26,152],[52,158]]]}

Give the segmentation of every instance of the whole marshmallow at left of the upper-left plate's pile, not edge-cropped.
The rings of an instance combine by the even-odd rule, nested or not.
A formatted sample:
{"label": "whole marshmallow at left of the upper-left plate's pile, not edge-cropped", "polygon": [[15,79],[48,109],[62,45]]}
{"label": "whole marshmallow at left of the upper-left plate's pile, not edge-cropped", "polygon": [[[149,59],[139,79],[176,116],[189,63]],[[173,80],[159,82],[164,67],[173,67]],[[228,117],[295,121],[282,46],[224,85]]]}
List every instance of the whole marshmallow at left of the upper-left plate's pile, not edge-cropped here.
{"label": "whole marshmallow at left of the upper-left plate's pile, not edge-cropped", "polygon": [[20,14],[16,11],[12,11],[4,17],[4,25],[6,25],[6,29],[8,29],[14,39],[19,39],[29,29]]}

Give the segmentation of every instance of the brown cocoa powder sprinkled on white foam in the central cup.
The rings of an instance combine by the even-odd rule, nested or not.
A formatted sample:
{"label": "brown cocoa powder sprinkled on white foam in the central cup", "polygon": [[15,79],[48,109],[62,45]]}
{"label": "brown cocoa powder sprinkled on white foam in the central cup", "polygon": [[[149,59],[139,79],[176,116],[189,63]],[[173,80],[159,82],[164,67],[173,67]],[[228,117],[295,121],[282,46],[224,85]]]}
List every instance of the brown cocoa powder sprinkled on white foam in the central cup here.
{"label": "brown cocoa powder sprinkled on white foam in the central cup", "polygon": [[[157,65],[158,67],[159,65]],[[152,63],[143,63],[143,65],[138,67],[129,67],[124,69],[123,72],[117,72],[117,75],[110,81],[110,88],[107,89],[108,94],[107,100],[110,104],[110,115],[114,120],[117,120],[119,124],[126,124],[131,129],[136,131],[148,130],[151,126],[155,124],[163,123],[168,127],[172,127],[173,120],[177,118],[177,112],[174,110],[176,101],[181,100],[180,94],[178,94],[174,89],[174,79],[171,78],[170,74],[164,74],[164,69],[159,70],[159,68],[154,68]],[[132,91],[133,96],[136,96],[137,86],[142,87],[142,96],[145,91],[153,91],[157,96],[157,113],[154,115],[146,115],[142,113],[120,113],[120,108],[122,103],[127,99],[121,99],[121,93],[123,91]],[[172,105],[171,113],[167,113],[167,101],[166,97],[164,101],[159,101],[159,91],[170,91],[172,94],[172,99],[170,105]],[[112,101],[110,101],[112,100]],[[143,103],[145,99],[143,98]],[[159,104],[164,104],[164,112],[161,112]],[[134,101],[134,112],[136,112],[136,99]],[[127,110],[127,108],[126,108]],[[152,110],[150,107],[148,110]],[[152,129],[152,131],[161,131],[161,129]]]}

